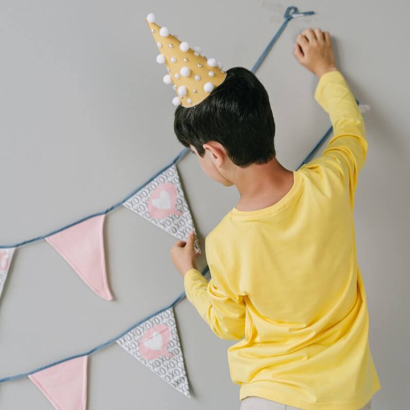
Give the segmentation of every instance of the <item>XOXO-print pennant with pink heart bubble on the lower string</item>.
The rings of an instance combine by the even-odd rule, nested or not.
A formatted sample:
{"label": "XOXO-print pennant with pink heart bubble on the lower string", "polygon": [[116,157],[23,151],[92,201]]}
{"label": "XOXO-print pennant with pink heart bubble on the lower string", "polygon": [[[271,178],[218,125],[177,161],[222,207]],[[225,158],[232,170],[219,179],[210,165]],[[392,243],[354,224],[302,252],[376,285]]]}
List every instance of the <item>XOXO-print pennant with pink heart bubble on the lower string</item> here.
{"label": "XOXO-print pennant with pink heart bubble on the lower string", "polygon": [[191,397],[172,306],[116,342],[178,392]]}

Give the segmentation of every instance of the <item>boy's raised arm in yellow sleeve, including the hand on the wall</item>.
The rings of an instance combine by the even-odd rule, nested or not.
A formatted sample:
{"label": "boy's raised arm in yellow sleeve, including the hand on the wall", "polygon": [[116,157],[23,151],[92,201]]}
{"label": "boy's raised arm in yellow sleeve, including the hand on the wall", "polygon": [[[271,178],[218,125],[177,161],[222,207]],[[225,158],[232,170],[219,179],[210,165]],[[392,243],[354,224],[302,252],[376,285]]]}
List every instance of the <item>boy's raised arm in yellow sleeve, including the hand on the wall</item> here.
{"label": "boy's raised arm in yellow sleeve, including the hand on the wall", "polygon": [[[319,28],[303,30],[296,39],[294,54],[302,66],[318,76],[314,96],[330,115],[333,126],[334,136],[322,156],[311,162],[321,163],[340,177],[353,209],[357,176],[367,155],[363,117],[355,97],[336,67],[329,31],[323,32]],[[303,167],[313,166],[311,162]]]}

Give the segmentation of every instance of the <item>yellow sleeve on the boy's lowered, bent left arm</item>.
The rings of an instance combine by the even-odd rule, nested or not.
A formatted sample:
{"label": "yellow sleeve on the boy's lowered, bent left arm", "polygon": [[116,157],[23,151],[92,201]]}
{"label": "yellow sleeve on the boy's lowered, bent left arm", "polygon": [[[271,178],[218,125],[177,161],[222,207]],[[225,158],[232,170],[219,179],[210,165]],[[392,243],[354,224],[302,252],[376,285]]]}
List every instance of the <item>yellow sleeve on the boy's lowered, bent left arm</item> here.
{"label": "yellow sleeve on the boy's lowered, bent left arm", "polygon": [[226,283],[217,283],[211,272],[208,281],[197,269],[190,269],[183,277],[187,299],[199,315],[221,339],[240,340],[245,335],[245,301],[243,296],[231,294]]}

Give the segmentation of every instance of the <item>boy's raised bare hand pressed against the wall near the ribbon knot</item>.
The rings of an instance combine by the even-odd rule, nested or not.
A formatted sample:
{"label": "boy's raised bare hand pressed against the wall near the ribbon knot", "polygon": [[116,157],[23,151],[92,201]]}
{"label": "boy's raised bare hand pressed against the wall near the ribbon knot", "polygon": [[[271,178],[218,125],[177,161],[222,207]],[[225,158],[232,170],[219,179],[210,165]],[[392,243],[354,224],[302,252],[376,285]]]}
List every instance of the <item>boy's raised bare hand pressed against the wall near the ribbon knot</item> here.
{"label": "boy's raised bare hand pressed against the wall near the ribbon knot", "polygon": [[328,31],[319,28],[303,30],[296,39],[293,53],[299,63],[319,78],[328,71],[337,70]]}

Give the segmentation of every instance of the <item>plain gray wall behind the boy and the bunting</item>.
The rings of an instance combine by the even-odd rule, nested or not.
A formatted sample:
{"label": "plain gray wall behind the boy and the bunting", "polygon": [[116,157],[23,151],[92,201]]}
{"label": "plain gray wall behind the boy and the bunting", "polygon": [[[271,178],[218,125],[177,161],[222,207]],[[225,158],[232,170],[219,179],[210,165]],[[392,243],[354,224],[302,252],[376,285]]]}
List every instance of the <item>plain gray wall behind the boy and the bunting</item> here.
{"label": "plain gray wall behind the boy and the bunting", "polygon": [[[162,83],[165,68],[155,61],[145,22],[149,12],[224,68],[250,69],[291,4],[3,0],[0,243],[43,235],[105,210],[182,149],[173,133],[175,94]],[[371,106],[363,114],[369,147],[355,221],[370,345],[382,385],[373,408],[404,408],[410,364],[404,263],[409,6],[369,0],[294,5],[318,15],[291,21],[257,72],[271,98],[278,159],[296,169],[330,126],[313,99],[317,78],[292,54],[300,31],[320,27],[330,31],[337,64],[355,96]],[[208,179],[193,155],[178,169],[203,244],[239,196],[235,187]],[[45,241],[16,251],[0,302],[0,377],[86,351],[183,291],[169,255],[175,238],[124,207],[106,222],[112,302],[94,295]],[[199,268],[205,263],[203,252]],[[239,408],[239,386],[231,382],[227,363],[234,342],[217,338],[187,299],[175,314],[193,397],[182,396],[113,345],[90,358],[89,409],[159,409],[164,403],[192,410]],[[0,386],[0,408],[52,406],[26,378]]]}

